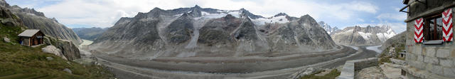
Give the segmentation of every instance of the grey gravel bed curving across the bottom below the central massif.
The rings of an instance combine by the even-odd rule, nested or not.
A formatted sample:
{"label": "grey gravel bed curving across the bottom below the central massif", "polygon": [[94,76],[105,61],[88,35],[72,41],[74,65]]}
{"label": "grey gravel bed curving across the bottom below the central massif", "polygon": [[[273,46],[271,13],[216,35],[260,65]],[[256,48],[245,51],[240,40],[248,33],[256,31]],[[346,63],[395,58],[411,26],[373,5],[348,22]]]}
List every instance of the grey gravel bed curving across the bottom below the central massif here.
{"label": "grey gravel bed curving across the bottom below the central massif", "polygon": [[[347,48],[347,47],[346,47]],[[353,51],[351,51],[353,50]],[[360,47],[359,52],[350,48],[348,56],[340,55],[341,57],[330,58],[331,60],[318,60],[323,58],[328,58],[329,56],[315,56],[317,58],[305,59],[287,59],[287,60],[276,60],[272,62],[262,62],[262,63],[250,63],[250,65],[245,65],[249,63],[176,63],[168,62],[166,65],[169,68],[193,68],[199,70],[212,70],[217,68],[216,66],[210,68],[210,66],[220,64],[224,65],[221,67],[226,67],[226,64],[230,64],[235,68],[225,68],[225,70],[212,70],[219,72],[205,72],[205,71],[191,71],[191,69],[181,70],[181,69],[171,69],[166,70],[166,68],[151,68],[149,65],[156,65],[156,63],[147,63],[150,61],[137,62],[135,64],[124,64],[126,62],[132,63],[131,61],[122,61],[122,60],[106,60],[105,57],[95,54],[99,58],[99,62],[103,65],[112,69],[112,72],[116,74],[119,78],[292,78],[300,70],[309,68],[309,67],[321,67],[321,68],[335,68],[338,65],[343,65],[346,60],[355,60],[360,58],[370,58],[375,56],[375,51],[366,50],[365,47]],[[303,60],[299,60],[303,59]],[[333,60],[335,59],[335,60]],[[300,61],[314,61],[311,63],[299,63]],[[163,63],[163,62],[161,62]],[[172,63],[172,64],[170,64]],[[298,63],[298,64],[295,64]],[[139,65],[140,64],[140,65]],[[236,65],[237,64],[237,65]],[[293,65],[295,64],[295,65]],[[188,65],[195,65],[189,66]],[[205,66],[204,66],[205,65]],[[208,65],[208,66],[207,66]],[[281,66],[280,66],[281,65]],[[291,66],[289,66],[291,65]],[[278,68],[277,68],[278,67]],[[219,66],[218,66],[219,68]],[[223,68],[220,68],[223,69]],[[230,70],[232,69],[232,70]],[[245,70],[240,70],[245,69]],[[223,73],[228,72],[228,73]]]}

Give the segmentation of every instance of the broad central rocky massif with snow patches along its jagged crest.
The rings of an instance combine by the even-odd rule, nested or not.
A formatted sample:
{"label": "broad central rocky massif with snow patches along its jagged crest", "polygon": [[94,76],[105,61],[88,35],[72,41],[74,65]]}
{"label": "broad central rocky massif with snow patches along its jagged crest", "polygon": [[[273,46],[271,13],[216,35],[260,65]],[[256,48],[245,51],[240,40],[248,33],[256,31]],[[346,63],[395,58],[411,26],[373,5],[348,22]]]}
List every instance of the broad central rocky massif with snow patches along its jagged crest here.
{"label": "broad central rocky massif with snow patches along its jagged crest", "polygon": [[245,9],[218,10],[199,6],[171,10],[155,8],[133,18],[119,19],[90,47],[137,58],[249,56],[338,48],[311,16],[277,15],[264,18]]}

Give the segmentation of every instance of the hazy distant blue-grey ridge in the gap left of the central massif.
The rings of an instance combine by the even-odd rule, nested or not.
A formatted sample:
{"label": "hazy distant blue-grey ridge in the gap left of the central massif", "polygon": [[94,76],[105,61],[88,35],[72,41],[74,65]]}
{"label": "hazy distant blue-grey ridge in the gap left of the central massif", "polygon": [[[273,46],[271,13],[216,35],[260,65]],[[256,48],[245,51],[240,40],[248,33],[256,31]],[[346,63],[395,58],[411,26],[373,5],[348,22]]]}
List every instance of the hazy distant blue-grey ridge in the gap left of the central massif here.
{"label": "hazy distant blue-grey ridge in the gap left of the central massif", "polygon": [[107,28],[72,28],[72,30],[82,39],[95,41],[98,36],[101,36]]}

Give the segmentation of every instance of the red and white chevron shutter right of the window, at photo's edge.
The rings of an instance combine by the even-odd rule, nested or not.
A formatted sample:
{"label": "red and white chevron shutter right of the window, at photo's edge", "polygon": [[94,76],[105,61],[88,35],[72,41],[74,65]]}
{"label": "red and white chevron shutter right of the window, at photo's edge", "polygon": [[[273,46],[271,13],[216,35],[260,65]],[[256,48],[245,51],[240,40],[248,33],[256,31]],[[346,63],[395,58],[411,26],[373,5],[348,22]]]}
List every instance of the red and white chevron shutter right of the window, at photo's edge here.
{"label": "red and white chevron shutter right of the window, at photo's edge", "polygon": [[453,41],[452,36],[452,9],[447,9],[446,11],[442,12],[442,39],[444,41]]}

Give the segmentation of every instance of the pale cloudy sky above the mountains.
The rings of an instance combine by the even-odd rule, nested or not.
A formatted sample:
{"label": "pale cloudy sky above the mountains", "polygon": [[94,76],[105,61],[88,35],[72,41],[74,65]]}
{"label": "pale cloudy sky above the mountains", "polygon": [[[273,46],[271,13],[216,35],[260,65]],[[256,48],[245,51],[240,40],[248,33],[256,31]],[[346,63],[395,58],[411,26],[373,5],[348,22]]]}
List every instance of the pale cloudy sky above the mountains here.
{"label": "pale cloudy sky above the mountains", "polygon": [[238,10],[245,8],[264,17],[280,12],[300,17],[309,14],[316,21],[345,28],[355,25],[390,25],[405,31],[406,14],[402,0],[6,0],[41,11],[70,28],[111,27],[121,17],[133,17],[154,7],[177,9],[193,7]]}

